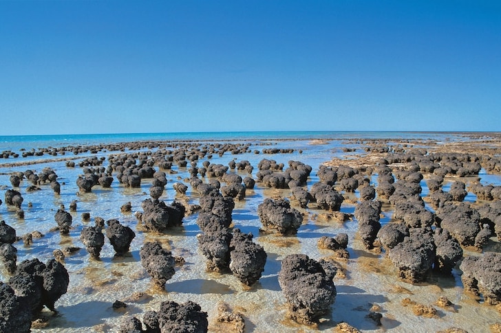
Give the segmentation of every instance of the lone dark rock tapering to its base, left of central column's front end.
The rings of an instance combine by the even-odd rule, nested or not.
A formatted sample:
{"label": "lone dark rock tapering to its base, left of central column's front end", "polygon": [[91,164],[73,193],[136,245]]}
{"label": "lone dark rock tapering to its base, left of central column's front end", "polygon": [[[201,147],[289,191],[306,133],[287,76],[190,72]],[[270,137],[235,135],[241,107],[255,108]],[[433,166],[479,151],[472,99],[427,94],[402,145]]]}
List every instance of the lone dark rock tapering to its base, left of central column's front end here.
{"label": "lone dark rock tapering to its base, left of central column's front end", "polygon": [[139,251],[142,266],[151,275],[153,282],[164,288],[174,271],[174,258],[171,251],[162,249],[159,242],[146,242]]}

